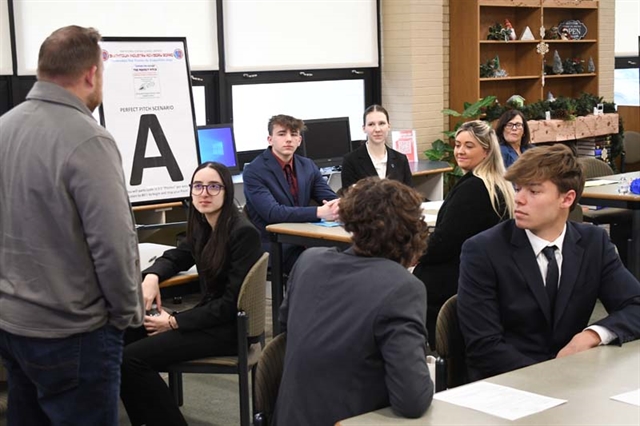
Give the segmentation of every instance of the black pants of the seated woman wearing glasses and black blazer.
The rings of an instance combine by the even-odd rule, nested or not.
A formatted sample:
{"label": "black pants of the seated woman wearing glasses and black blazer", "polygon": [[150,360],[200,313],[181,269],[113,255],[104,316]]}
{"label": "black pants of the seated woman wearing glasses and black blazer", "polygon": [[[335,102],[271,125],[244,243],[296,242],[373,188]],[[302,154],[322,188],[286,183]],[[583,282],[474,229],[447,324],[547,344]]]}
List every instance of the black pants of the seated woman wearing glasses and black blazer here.
{"label": "black pants of the seated woman wearing glasses and black blazer", "polygon": [[177,362],[235,355],[236,333],[234,324],[185,332],[170,330],[149,337],[143,327],[127,330],[120,397],[131,424],[186,425],[158,371]]}

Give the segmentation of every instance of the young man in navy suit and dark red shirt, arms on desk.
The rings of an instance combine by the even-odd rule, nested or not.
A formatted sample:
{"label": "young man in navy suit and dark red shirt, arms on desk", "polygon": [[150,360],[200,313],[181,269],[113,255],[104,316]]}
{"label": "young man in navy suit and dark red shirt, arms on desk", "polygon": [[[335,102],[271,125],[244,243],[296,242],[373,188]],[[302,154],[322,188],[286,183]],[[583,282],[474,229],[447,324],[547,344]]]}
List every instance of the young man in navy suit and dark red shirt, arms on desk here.
{"label": "young man in navy suit and dark red shirt, arms on desk", "polygon": [[[295,154],[302,142],[304,122],[289,115],[275,115],[268,124],[269,148],[243,171],[245,209],[269,251],[265,227],[281,222],[316,222],[338,217],[338,196],[316,164]],[[318,205],[309,206],[314,200]],[[289,271],[303,247],[283,246],[285,271]]]}

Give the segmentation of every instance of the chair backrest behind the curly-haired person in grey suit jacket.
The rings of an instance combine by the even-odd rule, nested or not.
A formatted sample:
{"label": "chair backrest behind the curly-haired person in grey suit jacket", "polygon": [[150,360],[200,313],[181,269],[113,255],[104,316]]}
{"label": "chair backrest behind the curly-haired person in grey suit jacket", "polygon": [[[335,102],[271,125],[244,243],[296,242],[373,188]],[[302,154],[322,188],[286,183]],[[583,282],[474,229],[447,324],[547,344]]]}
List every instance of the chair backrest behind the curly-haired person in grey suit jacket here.
{"label": "chair backrest behind the curly-haired person in grey suit jacket", "polygon": [[263,425],[271,424],[280,389],[287,333],[278,334],[262,351],[256,365],[254,413]]}

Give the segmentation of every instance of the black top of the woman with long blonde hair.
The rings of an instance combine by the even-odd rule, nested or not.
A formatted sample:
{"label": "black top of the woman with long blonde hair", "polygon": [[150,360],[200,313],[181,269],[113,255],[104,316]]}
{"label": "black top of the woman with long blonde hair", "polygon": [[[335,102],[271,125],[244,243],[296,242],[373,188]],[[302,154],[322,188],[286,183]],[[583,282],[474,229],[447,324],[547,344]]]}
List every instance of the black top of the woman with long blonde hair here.
{"label": "black top of the woman with long blonde hair", "polygon": [[504,202],[500,203],[499,211],[502,217],[493,210],[484,182],[473,172],[465,174],[442,203],[427,249],[413,270],[427,287],[427,330],[431,347],[435,347],[438,312],[458,290],[462,244],[506,218]]}

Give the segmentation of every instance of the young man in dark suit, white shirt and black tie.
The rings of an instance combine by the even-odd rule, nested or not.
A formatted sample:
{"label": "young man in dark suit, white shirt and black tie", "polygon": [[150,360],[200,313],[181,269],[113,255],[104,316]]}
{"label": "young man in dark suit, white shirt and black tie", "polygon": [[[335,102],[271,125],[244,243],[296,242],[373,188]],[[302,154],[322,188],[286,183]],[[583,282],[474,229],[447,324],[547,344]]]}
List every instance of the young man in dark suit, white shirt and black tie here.
{"label": "young man in dark suit, white shirt and black tie", "polygon": [[[507,171],[515,219],[462,247],[458,318],[478,380],[640,336],[640,284],[606,231],[567,222],[584,188],[564,145],[528,150]],[[588,326],[596,299],[608,316]]]}

